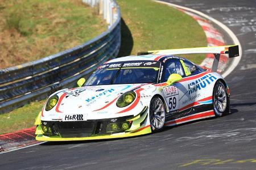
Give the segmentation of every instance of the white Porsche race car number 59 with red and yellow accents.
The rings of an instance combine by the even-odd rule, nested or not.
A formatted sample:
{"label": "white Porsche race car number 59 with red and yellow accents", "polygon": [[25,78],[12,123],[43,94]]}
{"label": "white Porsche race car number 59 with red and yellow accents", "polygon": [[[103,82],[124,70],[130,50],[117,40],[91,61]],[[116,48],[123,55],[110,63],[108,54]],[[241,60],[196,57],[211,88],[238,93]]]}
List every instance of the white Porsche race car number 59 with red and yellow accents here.
{"label": "white Porsche race car number 59 with red and yellow accents", "polygon": [[[176,54],[212,53],[212,70]],[[229,87],[217,70],[220,54],[237,45],[154,50],[115,58],[78,87],[55,92],[36,118],[36,140],[132,137],[229,113]],[[215,70],[214,70],[215,69]]]}

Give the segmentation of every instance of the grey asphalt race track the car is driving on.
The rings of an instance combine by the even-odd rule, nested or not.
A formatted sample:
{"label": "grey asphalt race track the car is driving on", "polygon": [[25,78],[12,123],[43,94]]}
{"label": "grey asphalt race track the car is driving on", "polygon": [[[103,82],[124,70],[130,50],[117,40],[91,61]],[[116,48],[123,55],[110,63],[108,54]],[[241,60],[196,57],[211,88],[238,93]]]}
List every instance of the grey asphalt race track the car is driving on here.
{"label": "grey asphalt race track the car is driving on", "polygon": [[0,154],[0,169],[256,169],[256,1],[167,1],[225,23],[243,56],[226,77],[232,114],[142,137],[48,142]]}

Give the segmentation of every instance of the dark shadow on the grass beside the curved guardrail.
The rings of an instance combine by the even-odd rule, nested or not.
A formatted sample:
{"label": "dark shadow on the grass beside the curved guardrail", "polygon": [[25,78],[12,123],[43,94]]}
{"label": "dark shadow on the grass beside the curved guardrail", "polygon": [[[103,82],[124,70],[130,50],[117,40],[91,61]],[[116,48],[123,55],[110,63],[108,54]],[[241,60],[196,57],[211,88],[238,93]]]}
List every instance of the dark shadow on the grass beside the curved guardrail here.
{"label": "dark shadow on the grass beside the curved guardrail", "polygon": [[131,36],[131,31],[127,27],[125,21],[121,18],[121,46],[118,57],[130,56],[132,49],[133,37]]}

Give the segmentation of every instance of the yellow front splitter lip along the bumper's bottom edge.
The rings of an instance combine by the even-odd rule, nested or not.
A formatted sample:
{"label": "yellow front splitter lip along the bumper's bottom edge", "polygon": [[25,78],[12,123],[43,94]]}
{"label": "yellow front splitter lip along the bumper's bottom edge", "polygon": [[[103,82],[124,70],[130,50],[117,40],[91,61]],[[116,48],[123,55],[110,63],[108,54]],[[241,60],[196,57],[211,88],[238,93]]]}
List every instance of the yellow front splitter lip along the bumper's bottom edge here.
{"label": "yellow front splitter lip along the bumper's bottom edge", "polygon": [[126,138],[126,137],[134,137],[138,135],[148,134],[151,133],[151,127],[145,128],[141,131],[137,131],[134,133],[118,133],[118,134],[111,134],[111,135],[97,135],[94,137],[82,137],[82,138],[61,138],[58,136],[54,137],[47,137],[44,135],[37,135],[36,141],[88,141],[88,140],[98,140],[98,139],[113,139],[113,138]]}

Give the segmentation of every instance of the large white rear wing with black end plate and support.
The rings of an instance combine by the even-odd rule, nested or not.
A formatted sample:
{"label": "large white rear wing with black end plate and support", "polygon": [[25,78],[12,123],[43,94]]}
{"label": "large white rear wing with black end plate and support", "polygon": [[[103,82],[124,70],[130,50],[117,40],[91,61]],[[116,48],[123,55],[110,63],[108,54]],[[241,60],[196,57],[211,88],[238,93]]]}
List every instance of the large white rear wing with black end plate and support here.
{"label": "large white rear wing with black end plate and support", "polygon": [[228,54],[229,58],[239,56],[238,45],[210,46],[199,48],[167,49],[167,50],[150,50],[139,52],[139,55],[159,54],[159,55],[177,55],[177,54],[214,54],[212,71],[217,71],[220,54]]}

